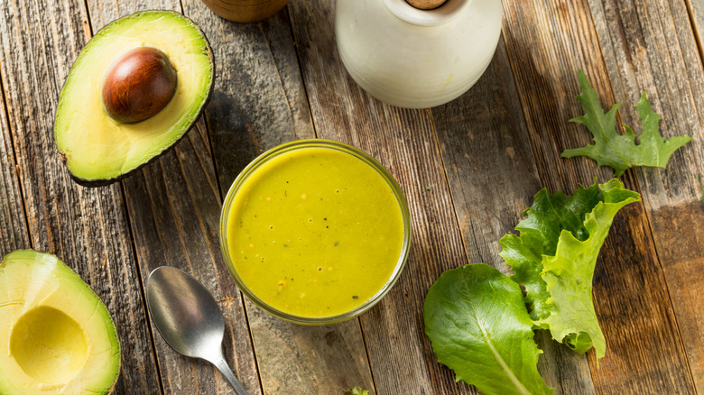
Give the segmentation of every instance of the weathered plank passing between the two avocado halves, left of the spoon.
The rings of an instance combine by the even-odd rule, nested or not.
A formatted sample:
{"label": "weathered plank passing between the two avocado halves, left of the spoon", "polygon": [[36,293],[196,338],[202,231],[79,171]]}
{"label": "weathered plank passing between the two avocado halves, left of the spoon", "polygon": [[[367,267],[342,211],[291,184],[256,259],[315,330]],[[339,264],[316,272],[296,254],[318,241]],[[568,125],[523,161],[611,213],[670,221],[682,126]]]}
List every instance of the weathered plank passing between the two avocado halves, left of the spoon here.
{"label": "weathered plank passing between the two avocado halves, left of the spoon", "polygon": [[53,144],[60,87],[90,35],[84,4],[5,2],[0,13],[5,103],[31,245],[56,253],[106,302],[122,343],[117,393],[158,393],[122,191],[79,187]]}

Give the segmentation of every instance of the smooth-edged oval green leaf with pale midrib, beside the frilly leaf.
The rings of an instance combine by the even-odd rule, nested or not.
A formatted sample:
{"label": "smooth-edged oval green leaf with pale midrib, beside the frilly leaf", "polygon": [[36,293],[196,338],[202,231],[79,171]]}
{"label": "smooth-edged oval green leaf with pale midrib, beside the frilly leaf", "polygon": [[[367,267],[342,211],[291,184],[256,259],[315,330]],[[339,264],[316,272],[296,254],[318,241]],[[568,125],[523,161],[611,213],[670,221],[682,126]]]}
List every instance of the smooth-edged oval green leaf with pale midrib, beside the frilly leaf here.
{"label": "smooth-edged oval green leaf with pale midrib, beside the frilly leaf", "polygon": [[445,271],[423,306],[425,333],[457,381],[489,394],[551,394],[518,285],[478,263]]}

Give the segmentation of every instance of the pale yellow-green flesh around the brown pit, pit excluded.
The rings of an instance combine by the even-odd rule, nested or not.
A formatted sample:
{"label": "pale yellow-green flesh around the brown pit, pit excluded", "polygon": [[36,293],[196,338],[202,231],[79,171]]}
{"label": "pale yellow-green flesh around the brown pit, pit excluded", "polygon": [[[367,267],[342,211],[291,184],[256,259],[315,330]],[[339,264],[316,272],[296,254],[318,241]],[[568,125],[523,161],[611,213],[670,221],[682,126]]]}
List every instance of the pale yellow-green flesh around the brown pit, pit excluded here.
{"label": "pale yellow-green flesh around the brown pit, pit excluded", "polygon": [[[169,57],[177,72],[176,92],[151,118],[120,124],[103,106],[103,80],[114,60],[142,46]],[[166,151],[200,115],[212,79],[208,41],[183,15],[147,11],[108,24],[80,52],[61,89],[54,139],[73,177],[116,180]]]}

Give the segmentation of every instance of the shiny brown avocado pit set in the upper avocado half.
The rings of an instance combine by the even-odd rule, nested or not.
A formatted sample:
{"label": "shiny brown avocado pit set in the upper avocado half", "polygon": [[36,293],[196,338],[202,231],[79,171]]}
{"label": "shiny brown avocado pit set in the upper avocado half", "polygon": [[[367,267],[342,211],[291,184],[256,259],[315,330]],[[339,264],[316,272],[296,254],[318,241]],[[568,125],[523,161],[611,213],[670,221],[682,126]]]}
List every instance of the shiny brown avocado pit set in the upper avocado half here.
{"label": "shiny brown avocado pit set in the upper avocado half", "polygon": [[176,93],[176,69],[165,53],[151,47],[127,51],[107,69],[103,106],[119,123],[134,124],[156,115]]}

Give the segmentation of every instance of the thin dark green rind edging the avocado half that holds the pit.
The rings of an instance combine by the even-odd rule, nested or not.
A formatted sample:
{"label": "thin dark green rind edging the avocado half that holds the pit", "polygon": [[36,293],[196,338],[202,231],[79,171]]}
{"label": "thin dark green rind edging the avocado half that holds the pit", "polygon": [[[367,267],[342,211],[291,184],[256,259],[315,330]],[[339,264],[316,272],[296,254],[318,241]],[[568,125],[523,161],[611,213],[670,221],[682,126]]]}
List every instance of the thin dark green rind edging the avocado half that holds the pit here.
{"label": "thin dark green rind edging the avocado half that holds the pit", "polygon": [[[76,182],[77,184],[79,184],[79,185],[82,186],[82,187],[87,187],[87,188],[105,187],[105,186],[110,185],[110,184],[113,184],[113,183],[115,183],[115,182],[117,182],[117,181],[119,181],[119,180],[121,180],[121,179],[125,179],[126,177],[131,176],[132,174],[134,174],[134,173],[137,172],[138,170],[142,170],[142,169],[144,168],[144,166],[147,166],[147,165],[153,163],[154,161],[158,160],[158,159],[161,158],[165,153],[170,152],[170,151],[176,146],[176,144],[177,144],[178,142],[181,142],[181,139],[183,139],[183,137],[184,137],[188,132],[190,132],[190,129],[193,127],[194,124],[196,124],[196,122],[198,122],[198,119],[199,119],[200,115],[203,114],[203,112],[205,111],[205,108],[208,106],[208,103],[210,102],[210,98],[212,97],[213,89],[214,89],[214,87],[215,87],[215,78],[216,78],[216,67],[215,67],[215,60],[214,60],[214,57],[213,57],[213,51],[211,50],[210,41],[208,41],[208,36],[205,34],[205,32],[203,32],[202,29],[200,29],[200,26],[199,26],[197,23],[193,22],[193,20],[190,19],[188,16],[183,15],[183,14],[181,14],[181,13],[177,13],[177,12],[175,12],[175,11],[171,11],[171,10],[146,10],[146,11],[140,11],[140,12],[136,12],[136,13],[133,13],[133,14],[127,14],[127,15],[125,15],[125,16],[123,16],[123,17],[120,17],[120,18],[116,19],[115,21],[113,21],[113,22],[111,22],[111,23],[108,23],[107,25],[105,25],[105,26],[103,26],[102,28],[100,28],[100,30],[98,30],[97,33],[93,35],[93,37],[94,37],[94,38],[97,37],[97,35],[100,34],[100,32],[103,32],[103,31],[107,30],[110,26],[112,26],[112,25],[115,24],[115,23],[120,23],[121,21],[123,21],[123,20],[125,20],[125,19],[128,19],[128,18],[139,17],[139,15],[141,15],[141,14],[152,14],[152,13],[159,13],[159,14],[175,14],[175,15],[178,15],[179,17],[181,17],[181,18],[187,20],[187,21],[192,25],[192,27],[193,27],[197,32],[199,32],[200,36],[202,37],[203,41],[205,42],[206,50],[208,51],[208,60],[210,61],[210,65],[211,65],[211,73],[210,73],[210,74],[211,74],[211,77],[210,77],[209,87],[208,87],[208,90],[207,90],[206,97],[205,97],[205,99],[203,99],[201,105],[199,106],[199,109],[193,113],[193,116],[192,116],[192,118],[190,119],[189,126],[186,127],[186,128],[184,128],[184,132],[181,133],[181,136],[178,137],[176,140],[174,140],[174,142],[172,142],[171,145],[169,145],[169,146],[167,146],[167,147],[164,147],[164,149],[162,150],[162,152],[160,152],[160,153],[158,153],[158,154],[155,154],[149,161],[145,161],[143,164],[139,165],[138,167],[134,168],[133,170],[129,170],[129,171],[127,171],[127,172],[125,172],[125,173],[123,173],[123,174],[120,174],[119,176],[114,177],[114,178],[111,178],[111,179],[82,179],[82,178],[76,176],[75,174],[73,174],[73,173],[69,170],[68,166],[66,166],[66,169],[69,170],[69,176],[70,176],[70,178],[73,179],[74,182]],[[91,40],[92,40],[92,39],[91,39]],[[87,43],[86,45],[88,45],[88,43]],[[84,48],[85,48],[85,46],[84,46]],[[79,59],[81,59],[82,56],[84,56],[84,51],[81,51],[81,52],[79,53],[79,56],[76,58],[76,60],[74,60],[74,64],[75,64],[76,62],[78,62]],[[71,69],[70,69],[70,71],[69,71],[69,76],[67,76],[67,78],[64,80],[64,84],[63,84],[63,86],[61,87],[60,98],[61,98],[61,96],[63,96],[64,88],[66,87],[66,83],[69,81],[69,77],[70,77],[70,75],[71,75],[72,72],[73,72],[73,67],[71,67]],[[54,133],[52,133],[52,135],[54,136],[54,139],[56,138],[56,134],[55,134],[55,133],[56,133],[56,124],[55,124],[56,115],[59,113],[60,108],[61,108],[61,106],[62,106],[62,103],[63,103],[63,101],[60,99],[60,100],[59,100],[59,105],[57,106],[56,112],[54,113],[54,124],[52,125],[52,126],[53,126],[52,129],[53,129],[53,131],[54,131]],[[106,115],[106,116],[107,116],[107,115]],[[54,145],[56,146],[56,143],[55,143]],[[59,149],[58,146],[56,146],[56,147],[57,147],[57,152],[59,153],[59,159],[60,159],[60,161],[63,162],[64,165],[66,165],[66,164],[67,164],[67,163],[66,163],[66,161],[67,161],[66,155],[64,154],[64,152],[61,152],[61,151],[60,151],[60,149]]]}

